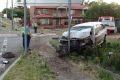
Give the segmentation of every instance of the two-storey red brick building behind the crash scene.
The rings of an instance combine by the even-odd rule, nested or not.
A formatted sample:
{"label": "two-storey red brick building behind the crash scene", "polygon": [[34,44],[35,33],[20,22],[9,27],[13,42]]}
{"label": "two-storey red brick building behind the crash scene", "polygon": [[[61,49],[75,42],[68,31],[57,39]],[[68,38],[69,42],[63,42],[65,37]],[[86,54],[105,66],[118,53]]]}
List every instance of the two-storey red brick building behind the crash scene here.
{"label": "two-storey red brick building behind the crash scene", "polygon": [[[81,23],[84,12],[88,9],[85,5],[72,4],[72,24]],[[32,24],[37,21],[40,28],[65,28],[68,27],[68,6],[45,5],[31,6],[30,18]]]}

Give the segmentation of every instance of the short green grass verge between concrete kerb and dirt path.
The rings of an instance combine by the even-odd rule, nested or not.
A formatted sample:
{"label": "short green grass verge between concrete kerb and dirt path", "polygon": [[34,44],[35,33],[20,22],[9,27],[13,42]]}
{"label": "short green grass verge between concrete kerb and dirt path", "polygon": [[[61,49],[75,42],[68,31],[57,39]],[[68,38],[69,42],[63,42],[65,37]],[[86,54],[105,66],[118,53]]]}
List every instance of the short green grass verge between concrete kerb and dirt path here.
{"label": "short green grass verge between concrete kerb and dirt path", "polygon": [[55,74],[50,70],[45,59],[33,52],[22,57],[4,80],[55,80]]}

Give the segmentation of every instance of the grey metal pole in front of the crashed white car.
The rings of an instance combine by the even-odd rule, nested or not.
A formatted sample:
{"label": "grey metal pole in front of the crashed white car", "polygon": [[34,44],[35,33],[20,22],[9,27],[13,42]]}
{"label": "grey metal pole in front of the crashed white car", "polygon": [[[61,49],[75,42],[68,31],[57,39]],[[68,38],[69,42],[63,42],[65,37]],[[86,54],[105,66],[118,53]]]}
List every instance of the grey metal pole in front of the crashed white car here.
{"label": "grey metal pole in front of the crashed white car", "polygon": [[68,0],[68,52],[70,53],[71,0]]}

